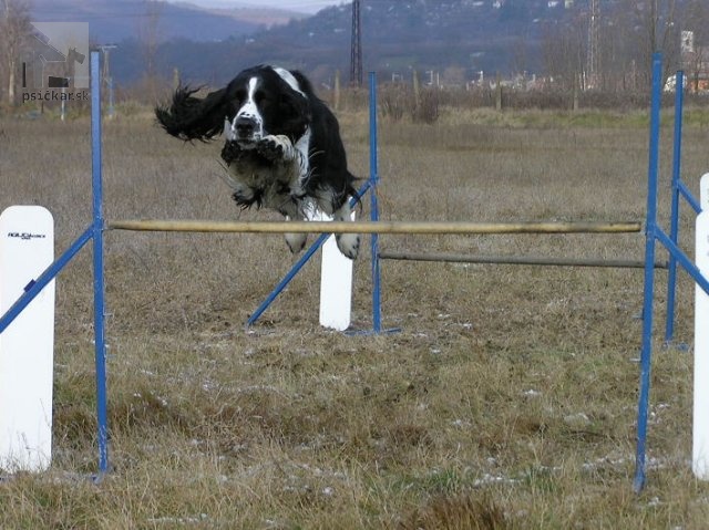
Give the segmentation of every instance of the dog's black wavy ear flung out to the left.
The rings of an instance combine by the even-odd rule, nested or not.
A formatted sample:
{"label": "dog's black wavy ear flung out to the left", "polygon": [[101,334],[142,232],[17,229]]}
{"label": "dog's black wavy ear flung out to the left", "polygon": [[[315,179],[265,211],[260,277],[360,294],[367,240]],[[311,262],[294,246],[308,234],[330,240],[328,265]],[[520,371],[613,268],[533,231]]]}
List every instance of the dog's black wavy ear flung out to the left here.
{"label": "dog's black wavy ear flung out to the left", "polygon": [[206,142],[224,131],[228,113],[226,89],[210,92],[204,98],[193,94],[199,89],[179,86],[169,106],[156,106],[155,116],[165,131],[185,142]]}

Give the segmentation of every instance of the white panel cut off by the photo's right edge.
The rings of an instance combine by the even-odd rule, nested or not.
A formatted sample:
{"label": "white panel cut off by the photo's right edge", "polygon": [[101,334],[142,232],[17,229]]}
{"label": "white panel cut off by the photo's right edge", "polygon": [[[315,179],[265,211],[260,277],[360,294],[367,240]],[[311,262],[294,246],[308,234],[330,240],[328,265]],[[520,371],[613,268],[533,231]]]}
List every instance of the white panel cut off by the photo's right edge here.
{"label": "white panel cut off by the photo's right edge", "polygon": [[[701,207],[697,216],[697,267],[709,278],[709,174],[701,177]],[[691,468],[709,480],[709,295],[695,285],[695,389]]]}

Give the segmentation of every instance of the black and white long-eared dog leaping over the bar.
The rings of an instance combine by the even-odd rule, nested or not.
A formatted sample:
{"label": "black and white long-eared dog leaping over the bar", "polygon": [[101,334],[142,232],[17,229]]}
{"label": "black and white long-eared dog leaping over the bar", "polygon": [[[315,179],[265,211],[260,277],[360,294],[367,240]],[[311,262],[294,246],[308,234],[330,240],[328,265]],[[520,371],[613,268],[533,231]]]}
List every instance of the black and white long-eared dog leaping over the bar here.
{"label": "black and white long-eared dog leaping over the bar", "polygon": [[[351,219],[356,178],[347,169],[339,124],[305,75],[260,65],[204,98],[195,92],[179,87],[155,115],[167,133],[184,141],[224,134],[222,158],[237,205],[271,208],[286,219],[307,219],[315,209],[338,221]],[[286,235],[292,252],[306,239],[306,233]],[[357,258],[358,235],[337,235],[337,245]]]}

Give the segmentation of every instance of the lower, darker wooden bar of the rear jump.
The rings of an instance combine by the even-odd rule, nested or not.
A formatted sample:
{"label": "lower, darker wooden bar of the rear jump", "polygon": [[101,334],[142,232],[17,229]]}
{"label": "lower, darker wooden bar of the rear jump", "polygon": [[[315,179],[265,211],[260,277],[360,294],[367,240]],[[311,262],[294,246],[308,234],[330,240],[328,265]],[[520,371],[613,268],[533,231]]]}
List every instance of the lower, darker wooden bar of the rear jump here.
{"label": "lower, darker wooden bar of the rear jump", "polygon": [[[383,260],[440,261],[453,263],[494,263],[552,267],[606,267],[614,269],[644,269],[643,260],[603,260],[586,258],[537,258],[531,256],[467,256],[445,252],[379,252]],[[656,269],[667,269],[666,261],[656,261]]]}

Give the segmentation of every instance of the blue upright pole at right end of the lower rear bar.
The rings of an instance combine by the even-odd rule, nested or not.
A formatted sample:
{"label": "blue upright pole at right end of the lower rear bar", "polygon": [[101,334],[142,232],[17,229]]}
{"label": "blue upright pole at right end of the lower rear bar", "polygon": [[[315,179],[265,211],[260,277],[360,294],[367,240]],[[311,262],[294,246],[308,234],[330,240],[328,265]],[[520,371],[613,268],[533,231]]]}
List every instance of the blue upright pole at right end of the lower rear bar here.
{"label": "blue upright pole at right end of the lower rear bar", "polygon": [[[680,70],[675,79],[675,136],[672,150],[672,200],[669,238],[677,245],[679,232],[679,194],[682,146],[682,107],[685,100],[685,73]],[[667,315],[665,342],[670,343],[675,334],[675,293],[677,291],[677,259],[670,252],[667,276]]]}

